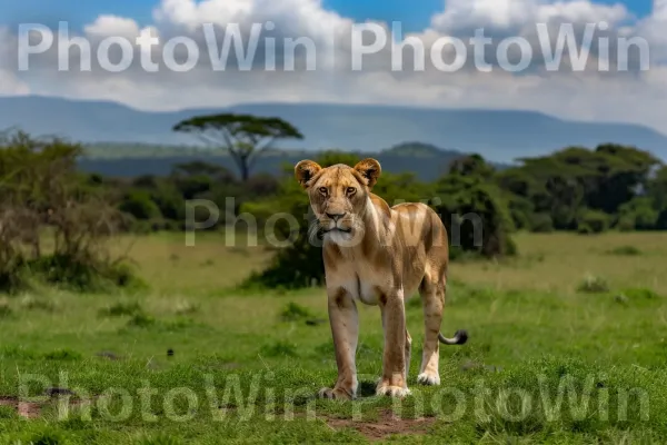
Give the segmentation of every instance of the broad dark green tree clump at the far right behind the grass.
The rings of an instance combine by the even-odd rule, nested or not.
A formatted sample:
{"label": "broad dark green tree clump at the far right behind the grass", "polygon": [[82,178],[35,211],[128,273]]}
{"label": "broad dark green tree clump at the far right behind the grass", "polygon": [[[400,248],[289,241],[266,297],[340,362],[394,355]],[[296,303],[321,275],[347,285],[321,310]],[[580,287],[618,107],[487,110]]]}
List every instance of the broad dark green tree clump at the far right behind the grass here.
{"label": "broad dark green tree clump at the far right behind the grass", "polygon": [[[594,150],[569,147],[521,161],[522,166],[499,172],[496,180],[506,192],[530,201],[531,209],[521,204],[521,212],[549,215],[555,229],[595,233],[599,224],[611,222],[604,222],[600,212],[617,220],[620,229],[655,227],[655,211],[661,209],[657,197],[663,196],[663,188],[657,178],[651,179],[651,171],[660,162],[646,151],[607,144]],[[649,190],[649,198],[628,205],[641,189]],[[524,216],[514,216],[516,205],[510,207],[514,219],[522,221]],[[596,227],[583,221],[591,217],[587,209],[596,211]]]}

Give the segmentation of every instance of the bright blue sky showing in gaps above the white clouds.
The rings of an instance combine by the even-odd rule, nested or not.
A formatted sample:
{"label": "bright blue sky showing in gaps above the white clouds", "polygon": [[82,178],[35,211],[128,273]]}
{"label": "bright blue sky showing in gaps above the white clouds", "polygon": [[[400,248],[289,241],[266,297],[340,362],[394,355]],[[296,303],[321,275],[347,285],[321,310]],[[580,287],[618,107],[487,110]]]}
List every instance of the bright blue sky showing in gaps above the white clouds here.
{"label": "bright blue sky showing in gaps above the white clouds", "polygon": [[[151,22],[152,9],[158,2],[159,0],[6,0],[0,6],[0,23],[33,21],[52,26],[59,20],[67,20],[74,27],[81,27],[102,13],[109,13],[131,17],[140,24],[147,24]],[[608,4],[617,2],[596,1]],[[648,14],[651,9],[651,0],[620,2],[639,17]],[[442,0],[323,0],[323,3],[327,8],[357,20],[400,20],[406,31],[424,29],[430,17],[444,7]]]}

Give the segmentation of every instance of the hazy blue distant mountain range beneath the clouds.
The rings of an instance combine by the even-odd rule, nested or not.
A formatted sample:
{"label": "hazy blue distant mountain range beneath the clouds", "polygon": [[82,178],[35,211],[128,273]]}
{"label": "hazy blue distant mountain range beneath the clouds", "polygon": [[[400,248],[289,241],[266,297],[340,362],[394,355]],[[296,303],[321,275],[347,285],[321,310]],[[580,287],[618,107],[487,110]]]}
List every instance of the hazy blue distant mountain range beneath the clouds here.
{"label": "hazy blue distant mountain range beneath the clouds", "polygon": [[0,98],[0,129],[17,126],[33,135],[59,135],[83,142],[191,145],[196,144],[193,138],[171,131],[175,123],[197,115],[228,111],[280,117],[305,135],[302,141],[287,141],[278,148],[377,152],[416,140],[511,162],[567,146],[594,148],[615,142],[667,159],[667,136],[648,127],[570,121],[510,110],[255,103],[153,112],[115,102],[22,96]]}

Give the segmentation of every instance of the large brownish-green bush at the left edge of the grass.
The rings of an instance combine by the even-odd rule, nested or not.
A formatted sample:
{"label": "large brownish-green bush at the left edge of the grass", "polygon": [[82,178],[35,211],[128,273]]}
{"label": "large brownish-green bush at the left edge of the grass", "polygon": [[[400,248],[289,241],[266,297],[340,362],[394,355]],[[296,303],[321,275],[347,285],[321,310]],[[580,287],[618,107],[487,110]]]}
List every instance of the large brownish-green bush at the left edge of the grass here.
{"label": "large brownish-green bush at the left edge of the grass", "polygon": [[100,178],[79,175],[80,155],[78,145],[21,131],[0,140],[0,291],[34,280],[82,291],[138,283],[107,245],[128,219]]}

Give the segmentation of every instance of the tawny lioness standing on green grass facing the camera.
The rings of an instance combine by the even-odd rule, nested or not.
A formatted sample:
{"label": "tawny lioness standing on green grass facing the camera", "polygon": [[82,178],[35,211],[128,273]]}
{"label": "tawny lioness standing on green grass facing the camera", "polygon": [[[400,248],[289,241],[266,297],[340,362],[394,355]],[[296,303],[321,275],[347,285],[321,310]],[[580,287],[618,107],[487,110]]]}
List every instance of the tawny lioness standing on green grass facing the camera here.
{"label": "tawny lioness standing on green grass facing the camera", "polygon": [[379,305],[385,330],[382,376],[376,394],[404,397],[411,338],[406,329],[404,299],[421,295],[426,342],[418,382],[439,385],[439,343],[462,345],[468,335],[440,334],[449,248],[447,230],[438,215],[424,204],[389,207],[371,192],[381,172],[375,159],[354,168],[321,168],[311,160],[295,167],[308,191],[316,219],[311,235],[323,240],[329,322],[336,349],[338,380],[320,397],[351,399],[357,395],[355,355],[358,339],[356,300]]}

